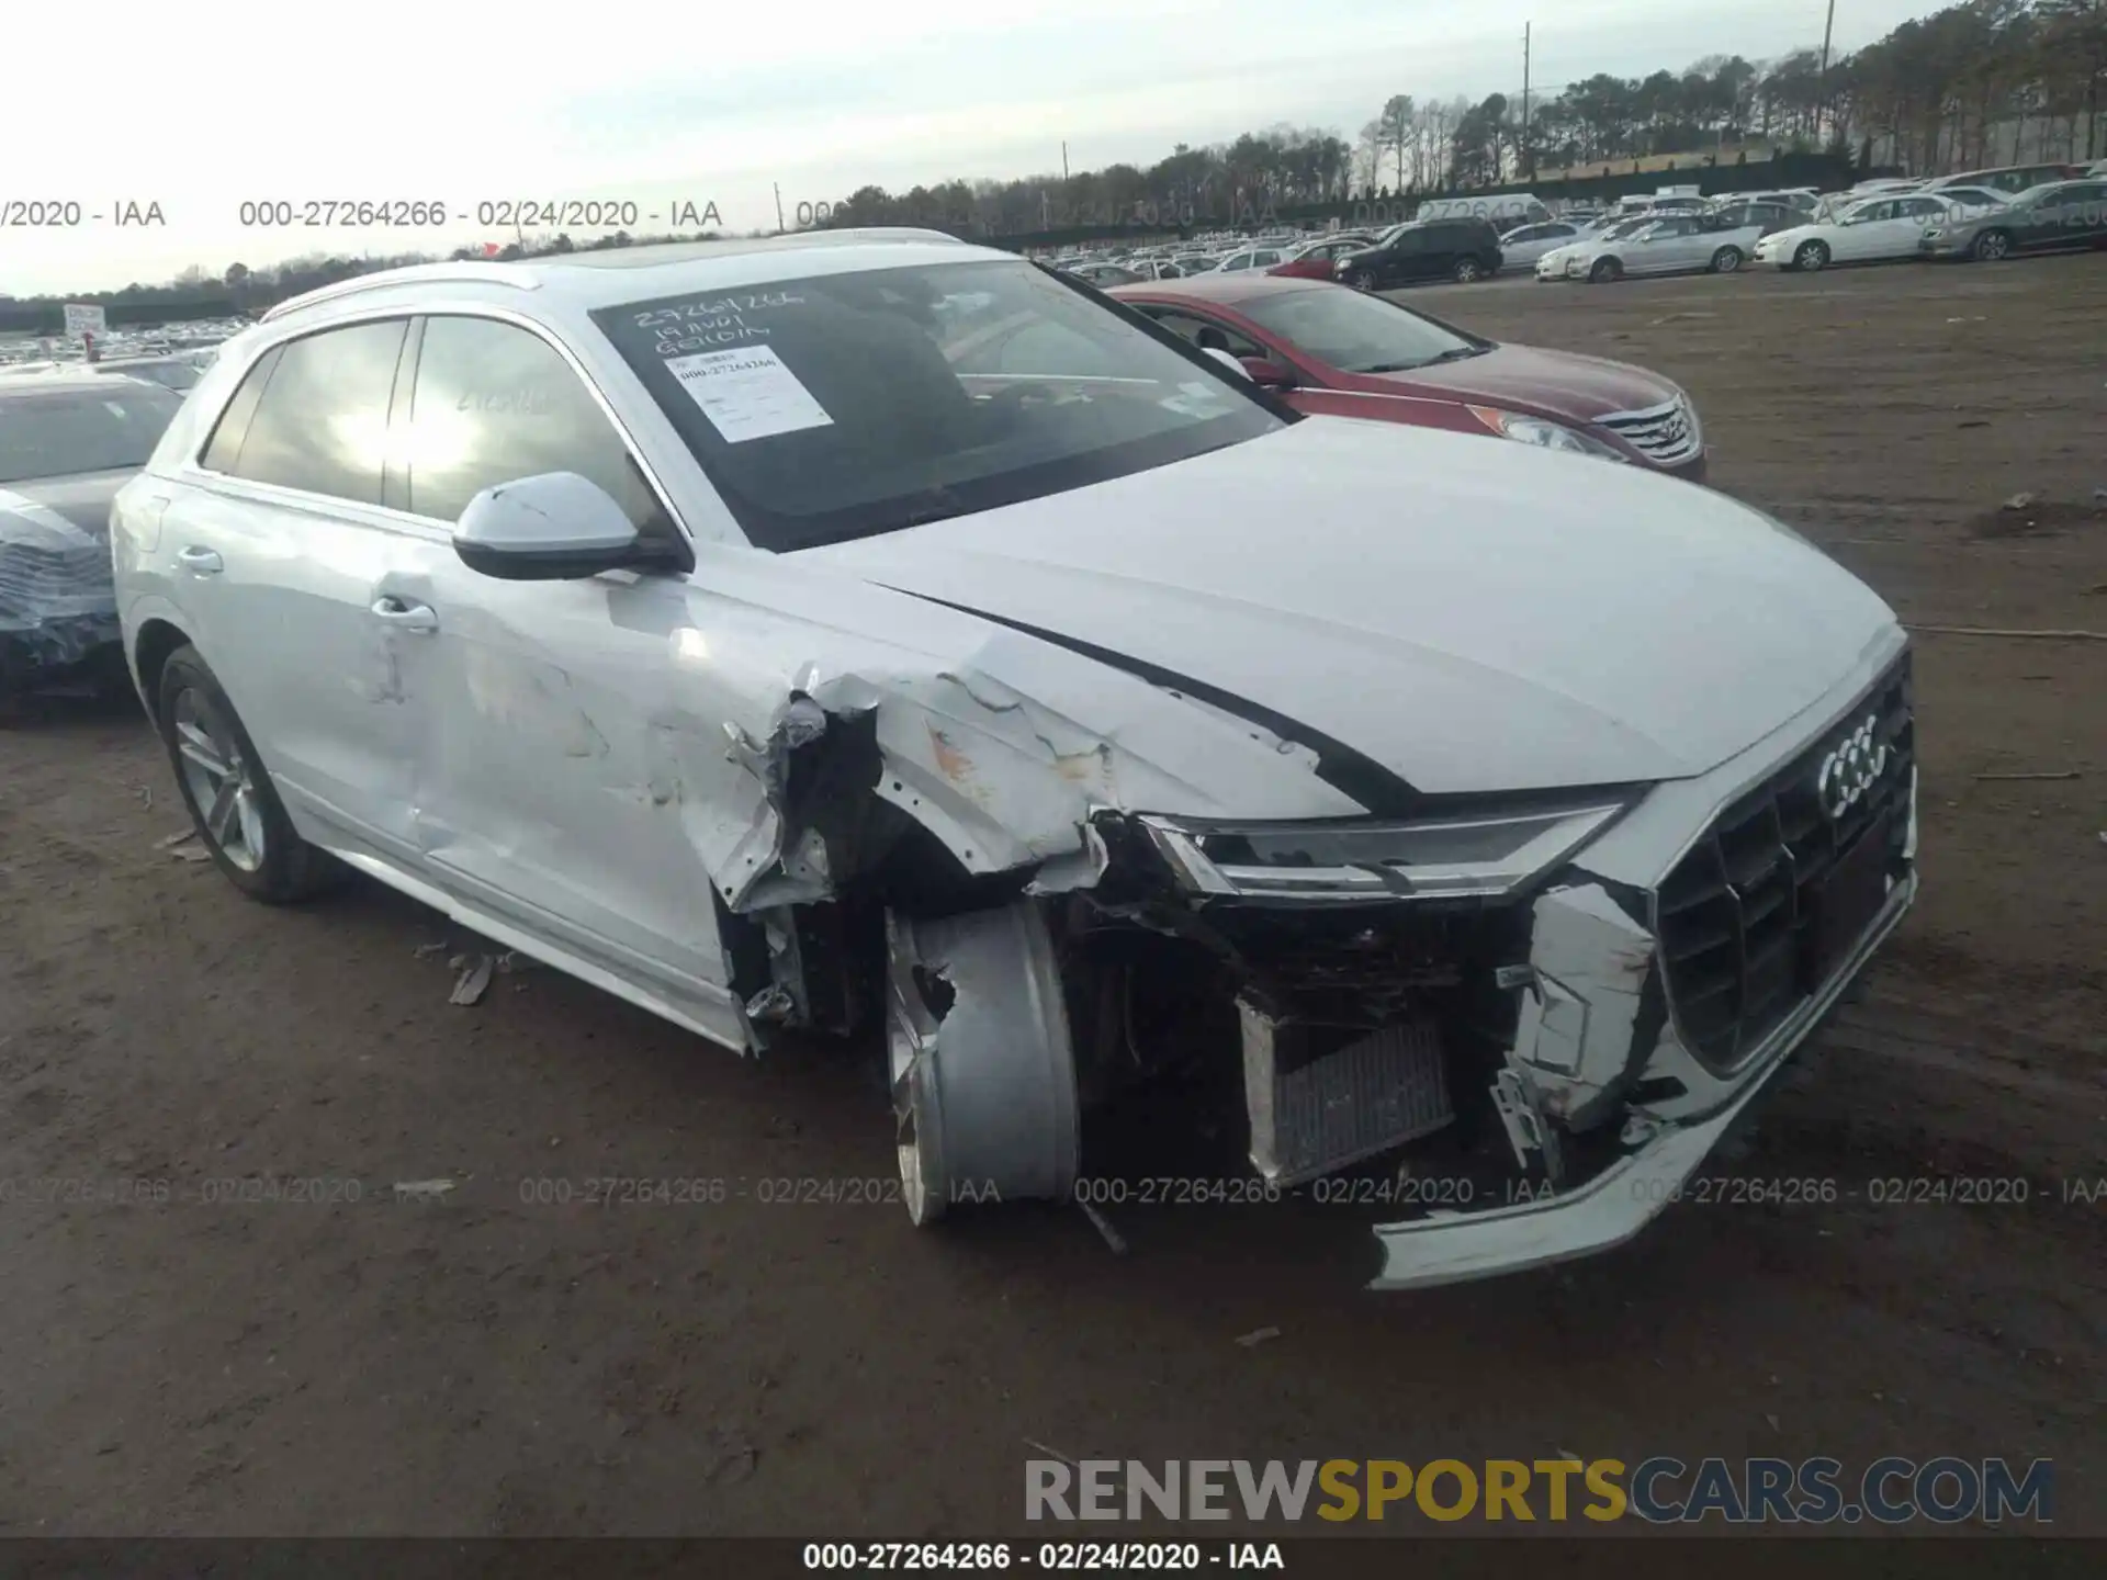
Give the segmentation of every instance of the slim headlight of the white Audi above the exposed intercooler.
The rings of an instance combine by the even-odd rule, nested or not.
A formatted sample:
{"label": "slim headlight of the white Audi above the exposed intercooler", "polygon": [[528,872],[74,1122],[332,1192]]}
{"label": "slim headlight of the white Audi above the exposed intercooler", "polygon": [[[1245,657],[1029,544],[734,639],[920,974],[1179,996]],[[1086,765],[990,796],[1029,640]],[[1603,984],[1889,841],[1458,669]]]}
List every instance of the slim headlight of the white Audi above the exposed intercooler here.
{"label": "slim headlight of the white Audi above the exposed intercooler", "polygon": [[1142,817],[1178,881],[1247,900],[1496,900],[1608,828],[1637,792],[1412,822],[1199,824]]}

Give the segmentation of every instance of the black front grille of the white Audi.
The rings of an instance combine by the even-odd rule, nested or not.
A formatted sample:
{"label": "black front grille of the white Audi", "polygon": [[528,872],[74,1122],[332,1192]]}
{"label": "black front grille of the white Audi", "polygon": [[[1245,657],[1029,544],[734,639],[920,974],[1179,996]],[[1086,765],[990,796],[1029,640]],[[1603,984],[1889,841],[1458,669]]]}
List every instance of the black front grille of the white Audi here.
{"label": "black front grille of the white Audi", "polygon": [[[1888,748],[1879,775],[1837,817],[1816,775],[1839,742],[1873,716]],[[1909,655],[1839,725],[1721,811],[1654,895],[1654,931],[1669,1005],[1705,1064],[1732,1068],[1823,984],[1816,885],[1860,836],[1886,838],[1901,876],[1915,777]]]}

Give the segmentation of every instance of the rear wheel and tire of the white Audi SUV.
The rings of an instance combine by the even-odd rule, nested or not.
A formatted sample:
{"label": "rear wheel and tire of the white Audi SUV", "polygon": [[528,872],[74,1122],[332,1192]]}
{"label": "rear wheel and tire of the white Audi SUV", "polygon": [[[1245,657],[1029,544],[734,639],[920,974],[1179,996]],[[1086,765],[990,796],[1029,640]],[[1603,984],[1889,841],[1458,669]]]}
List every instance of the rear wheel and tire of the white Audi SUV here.
{"label": "rear wheel and tire of the white Audi SUV", "polygon": [[255,742],[198,649],[179,647],[169,655],[154,723],[198,841],[228,883],[268,906],[341,883],[335,857],[293,832]]}

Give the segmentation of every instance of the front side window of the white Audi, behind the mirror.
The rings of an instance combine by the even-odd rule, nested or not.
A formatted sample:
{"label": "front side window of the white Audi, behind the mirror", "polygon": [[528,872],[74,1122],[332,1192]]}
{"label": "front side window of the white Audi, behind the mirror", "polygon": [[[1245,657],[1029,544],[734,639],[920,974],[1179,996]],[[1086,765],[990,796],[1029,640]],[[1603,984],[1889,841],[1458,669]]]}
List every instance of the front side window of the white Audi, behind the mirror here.
{"label": "front side window of the white Audi, behind the mirror", "polygon": [[607,413],[556,348],[516,324],[428,318],[398,430],[411,514],[455,520],[497,482],[577,472],[607,489],[638,531],[672,537]]}

